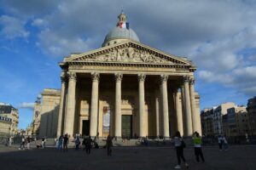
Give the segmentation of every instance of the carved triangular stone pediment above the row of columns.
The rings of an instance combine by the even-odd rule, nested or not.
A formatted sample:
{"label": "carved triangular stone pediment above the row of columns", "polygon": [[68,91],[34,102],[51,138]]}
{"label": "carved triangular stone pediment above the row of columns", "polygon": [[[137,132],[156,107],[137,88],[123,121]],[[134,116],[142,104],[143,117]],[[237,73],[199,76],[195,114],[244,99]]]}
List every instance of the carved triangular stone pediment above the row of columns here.
{"label": "carved triangular stone pediment above the row of columns", "polygon": [[71,57],[65,58],[64,62],[192,65],[187,59],[166,54],[158,49],[131,40],[98,48],[84,54],[72,54]]}

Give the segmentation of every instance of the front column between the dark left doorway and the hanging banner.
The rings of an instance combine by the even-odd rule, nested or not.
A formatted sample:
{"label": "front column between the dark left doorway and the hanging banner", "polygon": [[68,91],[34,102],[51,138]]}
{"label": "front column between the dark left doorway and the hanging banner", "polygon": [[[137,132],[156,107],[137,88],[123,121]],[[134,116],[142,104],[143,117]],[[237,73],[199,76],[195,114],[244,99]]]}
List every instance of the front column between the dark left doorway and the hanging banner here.
{"label": "front column between the dark left doorway and the hanging banner", "polygon": [[99,73],[91,73],[92,88],[90,99],[90,136],[97,134],[97,119],[98,119],[98,98],[99,98]]}

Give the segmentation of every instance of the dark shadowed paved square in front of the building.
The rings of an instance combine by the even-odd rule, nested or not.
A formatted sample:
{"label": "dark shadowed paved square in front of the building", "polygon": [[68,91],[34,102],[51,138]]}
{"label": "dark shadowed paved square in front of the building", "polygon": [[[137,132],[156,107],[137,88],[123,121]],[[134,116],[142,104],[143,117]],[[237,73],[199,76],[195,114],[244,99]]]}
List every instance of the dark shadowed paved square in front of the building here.
{"label": "dark shadowed paved square in front of the building", "polygon": [[[198,163],[194,148],[184,150],[189,169],[256,169],[256,145],[234,145],[227,151],[219,151],[217,146],[204,147],[203,153],[206,162]],[[0,145],[1,170],[166,170],[174,169],[176,164],[176,153],[172,147],[116,147],[113,148],[113,156],[107,156],[105,149],[94,149],[86,155],[84,150],[70,149],[63,153],[55,148],[18,150],[15,146]]]}

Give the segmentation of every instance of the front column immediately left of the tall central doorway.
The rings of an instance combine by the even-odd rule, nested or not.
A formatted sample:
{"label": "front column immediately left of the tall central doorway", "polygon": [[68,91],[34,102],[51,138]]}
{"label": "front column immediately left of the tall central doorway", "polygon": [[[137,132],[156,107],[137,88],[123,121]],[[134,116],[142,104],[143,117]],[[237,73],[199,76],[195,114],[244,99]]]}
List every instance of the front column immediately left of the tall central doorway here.
{"label": "front column immediately left of the tall central doorway", "polygon": [[115,74],[115,108],[114,108],[114,135],[122,136],[122,115],[121,115],[121,82],[123,75]]}

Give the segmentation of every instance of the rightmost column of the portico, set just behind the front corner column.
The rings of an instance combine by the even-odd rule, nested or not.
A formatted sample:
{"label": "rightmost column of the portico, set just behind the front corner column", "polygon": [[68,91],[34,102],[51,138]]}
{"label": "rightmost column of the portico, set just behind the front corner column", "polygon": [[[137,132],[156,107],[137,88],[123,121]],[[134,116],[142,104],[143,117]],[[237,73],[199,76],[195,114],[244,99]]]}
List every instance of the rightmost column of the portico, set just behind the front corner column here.
{"label": "rightmost column of the portico, set just behind the front corner column", "polygon": [[192,125],[193,130],[201,134],[201,122],[200,115],[196,111],[195,107],[195,79],[192,77],[189,79],[189,91],[190,91],[190,103],[191,103],[191,114],[192,114]]}

